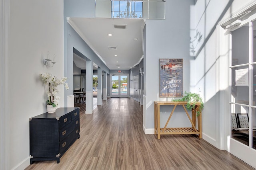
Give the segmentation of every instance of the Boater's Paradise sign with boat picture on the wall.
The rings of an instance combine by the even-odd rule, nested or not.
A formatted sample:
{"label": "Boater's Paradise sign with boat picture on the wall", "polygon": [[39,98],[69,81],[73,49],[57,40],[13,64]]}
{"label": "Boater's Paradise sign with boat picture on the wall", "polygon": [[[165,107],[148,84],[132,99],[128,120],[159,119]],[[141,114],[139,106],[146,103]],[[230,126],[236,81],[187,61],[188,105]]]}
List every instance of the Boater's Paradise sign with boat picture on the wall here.
{"label": "Boater's Paradise sign with boat picture on the wall", "polygon": [[160,59],[160,97],[183,96],[183,59]]}

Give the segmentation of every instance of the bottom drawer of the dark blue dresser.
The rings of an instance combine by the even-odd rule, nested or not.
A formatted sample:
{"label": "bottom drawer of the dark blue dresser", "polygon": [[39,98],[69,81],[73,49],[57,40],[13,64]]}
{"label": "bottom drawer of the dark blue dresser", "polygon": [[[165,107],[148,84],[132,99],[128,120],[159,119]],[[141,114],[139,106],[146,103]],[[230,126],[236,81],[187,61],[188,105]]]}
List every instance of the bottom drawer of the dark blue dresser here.
{"label": "bottom drawer of the dark blue dresser", "polygon": [[76,141],[79,137],[79,127],[76,127],[74,131],[72,131],[62,142],[60,142],[60,154],[62,155],[71,144]]}

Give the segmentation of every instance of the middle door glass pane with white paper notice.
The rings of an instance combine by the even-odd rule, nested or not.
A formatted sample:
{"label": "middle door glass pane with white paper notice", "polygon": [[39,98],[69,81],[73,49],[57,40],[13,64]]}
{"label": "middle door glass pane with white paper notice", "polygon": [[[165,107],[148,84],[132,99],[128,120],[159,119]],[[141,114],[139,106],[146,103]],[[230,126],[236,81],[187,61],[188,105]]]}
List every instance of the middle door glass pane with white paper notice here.
{"label": "middle door glass pane with white paper notice", "polygon": [[231,102],[249,104],[248,66],[232,68]]}

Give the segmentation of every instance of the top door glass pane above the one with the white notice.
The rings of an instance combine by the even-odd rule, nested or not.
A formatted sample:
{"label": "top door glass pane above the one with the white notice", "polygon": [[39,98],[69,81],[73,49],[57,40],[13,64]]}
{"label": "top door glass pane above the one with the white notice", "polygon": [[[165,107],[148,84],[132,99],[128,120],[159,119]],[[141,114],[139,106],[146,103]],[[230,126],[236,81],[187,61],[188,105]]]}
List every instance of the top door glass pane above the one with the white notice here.
{"label": "top door glass pane above the one with the white notice", "polygon": [[249,24],[232,31],[232,66],[249,63]]}

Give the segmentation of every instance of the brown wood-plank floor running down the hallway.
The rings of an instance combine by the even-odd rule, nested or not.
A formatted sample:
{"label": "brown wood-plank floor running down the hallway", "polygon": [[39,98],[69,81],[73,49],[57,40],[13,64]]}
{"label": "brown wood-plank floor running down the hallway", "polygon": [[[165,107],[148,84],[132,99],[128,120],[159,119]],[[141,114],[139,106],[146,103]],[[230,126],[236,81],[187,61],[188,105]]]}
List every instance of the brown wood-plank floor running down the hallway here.
{"label": "brown wood-plank floor running down the hallway", "polygon": [[80,139],[56,161],[26,170],[253,170],[194,135],[145,135],[143,107],[130,98],[109,98],[93,114],[80,107]]}

